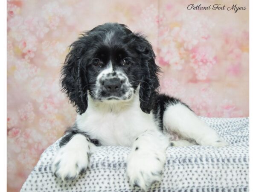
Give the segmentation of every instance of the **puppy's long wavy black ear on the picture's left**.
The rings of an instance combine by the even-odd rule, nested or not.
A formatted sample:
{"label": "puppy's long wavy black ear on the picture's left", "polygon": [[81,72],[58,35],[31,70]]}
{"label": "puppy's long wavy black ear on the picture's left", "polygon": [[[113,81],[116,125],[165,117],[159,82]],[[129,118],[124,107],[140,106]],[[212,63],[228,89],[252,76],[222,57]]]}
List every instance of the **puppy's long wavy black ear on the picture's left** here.
{"label": "puppy's long wavy black ear on the picture's left", "polygon": [[62,91],[67,93],[71,103],[76,107],[76,112],[82,114],[87,109],[87,79],[82,65],[84,41],[79,38],[70,45],[64,66],[61,68]]}

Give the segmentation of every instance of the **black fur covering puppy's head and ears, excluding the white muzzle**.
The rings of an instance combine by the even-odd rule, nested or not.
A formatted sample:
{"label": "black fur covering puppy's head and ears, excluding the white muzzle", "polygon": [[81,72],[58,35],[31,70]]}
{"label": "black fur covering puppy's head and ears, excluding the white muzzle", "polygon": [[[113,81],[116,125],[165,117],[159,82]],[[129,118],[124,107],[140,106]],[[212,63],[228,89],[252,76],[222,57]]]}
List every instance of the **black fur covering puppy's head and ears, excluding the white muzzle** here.
{"label": "black fur covering puppy's head and ears, excluding the white muzzle", "polygon": [[[111,33],[114,35],[108,42],[107,35]],[[119,57],[121,60],[131,58],[132,64],[120,66]],[[94,58],[101,59],[101,68],[92,64]],[[133,33],[127,26],[118,23],[106,23],[86,31],[70,45],[61,70],[61,85],[76,111],[79,114],[86,111],[87,90],[94,97],[96,77],[111,58],[115,58],[112,60],[113,68],[122,67],[134,90],[140,84],[140,108],[150,113],[159,87],[157,73],[160,70],[155,64],[154,51],[143,35]]]}

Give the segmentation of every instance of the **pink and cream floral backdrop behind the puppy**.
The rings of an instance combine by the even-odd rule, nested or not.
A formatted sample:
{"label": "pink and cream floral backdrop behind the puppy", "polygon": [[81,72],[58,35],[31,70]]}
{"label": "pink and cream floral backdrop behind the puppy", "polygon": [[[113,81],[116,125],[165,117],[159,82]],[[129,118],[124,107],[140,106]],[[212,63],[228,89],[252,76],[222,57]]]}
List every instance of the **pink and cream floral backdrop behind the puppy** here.
{"label": "pink and cream floral backdrop behind the puppy", "polygon": [[[191,3],[246,6],[187,10]],[[161,92],[199,115],[249,116],[248,0],[8,0],[7,186],[18,192],[41,153],[72,125],[61,63],[84,31],[105,22],[143,32],[162,68]]]}

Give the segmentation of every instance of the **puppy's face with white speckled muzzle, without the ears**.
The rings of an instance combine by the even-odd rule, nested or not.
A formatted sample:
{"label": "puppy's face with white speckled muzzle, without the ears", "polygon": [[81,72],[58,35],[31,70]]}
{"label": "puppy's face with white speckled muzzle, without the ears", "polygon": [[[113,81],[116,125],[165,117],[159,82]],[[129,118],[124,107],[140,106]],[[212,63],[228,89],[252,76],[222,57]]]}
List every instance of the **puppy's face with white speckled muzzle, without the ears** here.
{"label": "puppy's face with white speckled muzzle, without the ears", "polygon": [[141,79],[140,55],[133,47],[121,43],[125,36],[113,35],[110,33],[105,40],[93,41],[85,55],[88,91],[99,101],[129,100]]}

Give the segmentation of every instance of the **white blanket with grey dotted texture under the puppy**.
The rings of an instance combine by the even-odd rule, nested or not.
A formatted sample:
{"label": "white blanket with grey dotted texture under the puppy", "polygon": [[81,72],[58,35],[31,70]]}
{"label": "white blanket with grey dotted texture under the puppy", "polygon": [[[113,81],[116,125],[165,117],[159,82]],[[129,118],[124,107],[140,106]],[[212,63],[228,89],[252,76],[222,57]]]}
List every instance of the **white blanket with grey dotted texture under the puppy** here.
{"label": "white blanket with grey dotted texture under the puppy", "polygon": [[[249,191],[249,118],[202,118],[230,143],[227,147],[169,147],[161,183],[149,191],[160,192],[247,192]],[[86,173],[63,182],[51,172],[59,140],[49,146],[21,192],[131,192],[126,158],[130,148],[100,147],[91,155]]]}

